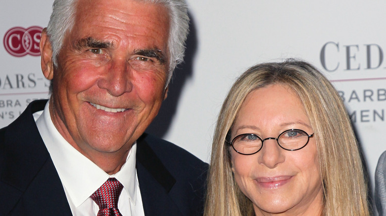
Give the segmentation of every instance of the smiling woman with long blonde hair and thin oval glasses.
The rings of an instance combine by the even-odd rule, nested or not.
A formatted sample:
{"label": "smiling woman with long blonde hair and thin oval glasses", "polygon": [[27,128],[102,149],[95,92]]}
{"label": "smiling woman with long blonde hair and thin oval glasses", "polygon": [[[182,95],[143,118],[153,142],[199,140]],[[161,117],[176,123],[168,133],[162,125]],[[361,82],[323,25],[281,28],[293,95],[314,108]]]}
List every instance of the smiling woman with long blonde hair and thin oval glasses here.
{"label": "smiling woman with long blonde hair and thin oval glasses", "polygon": [[206,216],[368,216],[367,184],[337,91],[312,65],[256,65],[219,113]]}

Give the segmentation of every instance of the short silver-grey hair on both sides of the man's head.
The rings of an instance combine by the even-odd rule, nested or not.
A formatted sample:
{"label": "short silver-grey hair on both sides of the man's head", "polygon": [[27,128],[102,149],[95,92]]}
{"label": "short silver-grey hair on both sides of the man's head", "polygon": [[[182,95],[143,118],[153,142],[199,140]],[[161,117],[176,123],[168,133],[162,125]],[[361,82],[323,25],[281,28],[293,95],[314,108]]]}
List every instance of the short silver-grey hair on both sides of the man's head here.
{"label": "short silver-grey hair on both sides of the man's head", "polygon": [[[189,33],[188,6],[184,0],[139,0],[162,4],[169,10],[170,30],[169,48],[169,83],[173,71],[184,61],[185,40]],[[52,61],[57,66],[57,57],[63,45],[67,32],[72,30],[75,22],[76,3],[78,0],[55,0],[52,4],[52,14],[48,22],[47,35],[52,46]]]}

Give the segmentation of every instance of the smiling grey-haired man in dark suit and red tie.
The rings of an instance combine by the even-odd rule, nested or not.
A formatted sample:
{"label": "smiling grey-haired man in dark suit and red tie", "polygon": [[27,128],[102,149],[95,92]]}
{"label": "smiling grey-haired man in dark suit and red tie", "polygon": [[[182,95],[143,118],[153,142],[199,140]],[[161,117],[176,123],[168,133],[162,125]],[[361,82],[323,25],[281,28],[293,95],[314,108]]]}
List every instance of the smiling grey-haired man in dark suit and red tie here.
{"label": "smiling grey-haired man in dark suit and red tie", "polygon": [[55,0],[50,99],[0,130],[1,216],[202,215],[207,164],[143,135],[188,21],[182,0]]}

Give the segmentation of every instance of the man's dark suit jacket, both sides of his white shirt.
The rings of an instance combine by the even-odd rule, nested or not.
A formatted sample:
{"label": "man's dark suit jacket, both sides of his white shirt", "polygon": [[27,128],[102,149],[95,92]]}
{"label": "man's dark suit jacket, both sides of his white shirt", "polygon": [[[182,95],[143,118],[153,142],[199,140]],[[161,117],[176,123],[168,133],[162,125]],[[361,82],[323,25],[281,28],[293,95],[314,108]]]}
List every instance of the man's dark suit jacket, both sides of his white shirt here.
{"label": "man's dark suit jacket, both sides of his white shirt", "polygon": [[[0,216],[71,216],[66,195],[32,113],[32,102],[0,129]],[[145,216],[202,215],[207,164],[186,150],[144,134],[137,175]]]}

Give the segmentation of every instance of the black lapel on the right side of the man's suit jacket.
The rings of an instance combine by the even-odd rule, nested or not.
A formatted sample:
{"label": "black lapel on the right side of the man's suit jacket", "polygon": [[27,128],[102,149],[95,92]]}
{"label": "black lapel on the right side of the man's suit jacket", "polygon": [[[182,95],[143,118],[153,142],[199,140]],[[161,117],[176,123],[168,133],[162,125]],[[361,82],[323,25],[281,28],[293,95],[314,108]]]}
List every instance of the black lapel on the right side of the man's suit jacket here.
{"label": "black lapel on the right side of the man's suit jacket", "polygon": [[146,143],[145,136],[137,141],[136,163],[145,216],[182,215],[169,196],[176,180]]}

